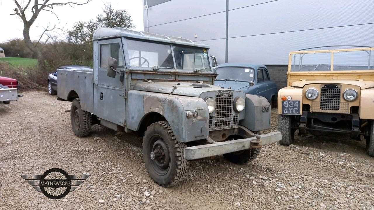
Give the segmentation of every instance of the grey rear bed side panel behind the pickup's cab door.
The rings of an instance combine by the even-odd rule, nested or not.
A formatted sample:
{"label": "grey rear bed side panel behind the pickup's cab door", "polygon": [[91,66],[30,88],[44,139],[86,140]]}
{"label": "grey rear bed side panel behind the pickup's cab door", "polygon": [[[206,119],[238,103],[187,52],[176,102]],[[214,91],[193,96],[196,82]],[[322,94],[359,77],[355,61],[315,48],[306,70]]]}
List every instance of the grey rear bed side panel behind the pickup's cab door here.
{"label": "grey rear bed side panel behind the pickup's cab door", "polygon": [[93,112],[93,72],[61,70],[57,71],[58,98],[71,101],[69,94],[76,92],[80,98],[80,107]]}

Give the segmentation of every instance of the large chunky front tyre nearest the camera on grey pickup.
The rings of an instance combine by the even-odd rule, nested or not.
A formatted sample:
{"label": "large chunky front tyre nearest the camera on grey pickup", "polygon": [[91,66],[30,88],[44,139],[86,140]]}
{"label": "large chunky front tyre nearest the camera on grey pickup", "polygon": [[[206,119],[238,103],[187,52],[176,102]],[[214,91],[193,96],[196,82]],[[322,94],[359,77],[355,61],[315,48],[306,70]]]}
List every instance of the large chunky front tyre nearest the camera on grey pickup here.
{"label": "large chunky front tyre nearest the camera on grey pickup", "polygon": [[[160,169],[157,166],[159,164],[157,160],[152,160],[151,158],[151,152],[154,152],[153,149],[157,142],[164,142],[164,157],[169,158],[169,164],[166,169]],[[166,121],[153,123],[147,127],[142,143],[143,160],[149,175],[155,183],[163,187],[170,187],[177,185],[183,179],[188,168],[188,161],[183,157],[184,148],[184,143],[177,141],[170,125]]]}

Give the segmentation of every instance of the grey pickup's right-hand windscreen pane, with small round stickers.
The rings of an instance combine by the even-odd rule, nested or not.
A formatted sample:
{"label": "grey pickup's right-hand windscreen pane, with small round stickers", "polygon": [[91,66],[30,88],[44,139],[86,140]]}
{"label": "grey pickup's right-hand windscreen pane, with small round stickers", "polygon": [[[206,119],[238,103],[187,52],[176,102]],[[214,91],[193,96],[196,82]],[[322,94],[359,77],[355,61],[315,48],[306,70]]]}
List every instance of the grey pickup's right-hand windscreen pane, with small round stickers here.
{"label": "grey pickup's right-hand windscreen pane, with small round stickers", "polygon": [[192,71],[212,71],[207,49],[199,47],[173,46],[177,69]]}

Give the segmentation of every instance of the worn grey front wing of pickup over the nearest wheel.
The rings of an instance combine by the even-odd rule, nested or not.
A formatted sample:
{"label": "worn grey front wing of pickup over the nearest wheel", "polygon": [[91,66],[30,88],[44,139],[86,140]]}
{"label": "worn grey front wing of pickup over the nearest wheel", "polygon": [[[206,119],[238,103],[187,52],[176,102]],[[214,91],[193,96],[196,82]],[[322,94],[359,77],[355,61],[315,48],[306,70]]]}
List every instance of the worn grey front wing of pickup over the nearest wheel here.
{"label": "worn grey front wing of pickup over the nearest wheel", "polygon": [[[187,118],[187,111],[198,117]],[[209,112],[205,101],[197,97],[130,90],[128,92],[127,128],[137,131],[147,114],[157,112],[170,124],[175,138],[181,142],[209,137]]]}

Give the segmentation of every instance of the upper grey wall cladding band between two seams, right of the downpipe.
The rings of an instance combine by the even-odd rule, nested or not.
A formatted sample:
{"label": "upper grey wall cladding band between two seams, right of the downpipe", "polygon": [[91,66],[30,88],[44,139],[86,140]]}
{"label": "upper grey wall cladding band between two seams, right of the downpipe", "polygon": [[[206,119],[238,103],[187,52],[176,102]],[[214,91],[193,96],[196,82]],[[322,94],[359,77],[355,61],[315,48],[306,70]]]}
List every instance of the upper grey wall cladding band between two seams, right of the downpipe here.
{"label": "upper grey wall cladding band between two seams, right of the downpipe", "polygon": [[229,37],[370,23],[373,10],[371,0],[273,1],[230,11]]}

